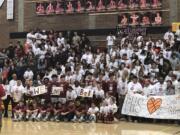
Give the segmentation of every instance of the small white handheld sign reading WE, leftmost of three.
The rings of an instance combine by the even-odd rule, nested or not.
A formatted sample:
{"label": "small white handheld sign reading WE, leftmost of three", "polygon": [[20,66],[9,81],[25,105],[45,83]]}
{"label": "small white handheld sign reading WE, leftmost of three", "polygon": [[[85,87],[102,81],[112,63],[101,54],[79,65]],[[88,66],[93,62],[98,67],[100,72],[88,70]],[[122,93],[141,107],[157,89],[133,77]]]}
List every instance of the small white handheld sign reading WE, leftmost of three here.
{"label": "small white handheld sign reading WE, leftmost of three", "polygon": [[46,89],[45,85],[34,87],[32,89],[32,93],[33,93],[32,94],[33,96],[42,95],[42,94],[47,93],[47,89]]}

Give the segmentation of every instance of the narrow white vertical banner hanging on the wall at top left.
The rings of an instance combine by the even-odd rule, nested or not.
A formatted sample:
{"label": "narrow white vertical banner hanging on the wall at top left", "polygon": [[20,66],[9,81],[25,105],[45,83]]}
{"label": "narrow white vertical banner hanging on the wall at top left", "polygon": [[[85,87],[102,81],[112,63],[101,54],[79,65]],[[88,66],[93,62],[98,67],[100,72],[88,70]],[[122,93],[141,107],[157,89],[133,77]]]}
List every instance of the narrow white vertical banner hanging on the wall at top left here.
{"label": "narrow white vertical banner hanging on the wall at top left", "polygon": [[14,19],[14,0],[7,0],[7,20]]}

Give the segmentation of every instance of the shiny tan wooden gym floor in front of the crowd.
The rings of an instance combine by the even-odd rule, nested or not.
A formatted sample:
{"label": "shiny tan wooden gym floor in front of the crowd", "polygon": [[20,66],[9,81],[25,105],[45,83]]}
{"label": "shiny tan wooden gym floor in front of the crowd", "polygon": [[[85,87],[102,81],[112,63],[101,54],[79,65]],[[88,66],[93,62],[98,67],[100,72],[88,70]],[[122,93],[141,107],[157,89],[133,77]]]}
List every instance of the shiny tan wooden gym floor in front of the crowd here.
{"label": "shiny tan wooden gym floor in front of the crowd", "polygon": [[128,122],[12,122],[11,119],[3,119],[0,135],[180,135],[180,126]]}

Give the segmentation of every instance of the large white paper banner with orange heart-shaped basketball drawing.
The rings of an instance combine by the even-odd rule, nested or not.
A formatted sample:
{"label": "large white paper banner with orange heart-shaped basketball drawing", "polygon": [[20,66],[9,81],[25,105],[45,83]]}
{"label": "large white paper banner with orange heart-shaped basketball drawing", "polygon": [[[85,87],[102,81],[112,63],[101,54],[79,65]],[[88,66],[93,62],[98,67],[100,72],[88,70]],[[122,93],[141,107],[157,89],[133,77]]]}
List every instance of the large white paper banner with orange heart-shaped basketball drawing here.
{"label": "large white paper banner with orange heart-shaped basketball drawing", "polygon": [[150,96],[139,94],[126,95],[122,114],[153,118],[180,119],[180,96]]}

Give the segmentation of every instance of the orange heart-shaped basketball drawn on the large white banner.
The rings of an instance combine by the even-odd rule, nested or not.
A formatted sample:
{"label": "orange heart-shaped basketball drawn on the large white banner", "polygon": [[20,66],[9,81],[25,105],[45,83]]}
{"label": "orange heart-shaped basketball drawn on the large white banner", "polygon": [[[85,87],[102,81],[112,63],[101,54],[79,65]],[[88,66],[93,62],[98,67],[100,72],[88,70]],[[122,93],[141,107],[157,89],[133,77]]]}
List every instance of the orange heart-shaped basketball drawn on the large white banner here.
{"label": "orange heart-shaped basketball drawn on the large white banner", "polygon": [[162,104],[162,99],[161,98],[150,98],[147,102],[147,108],[150,114],[153,114],[154,112],[156,112]]}

